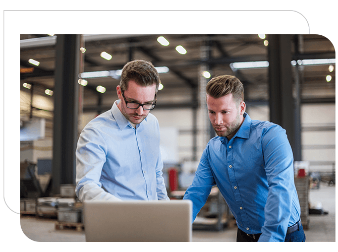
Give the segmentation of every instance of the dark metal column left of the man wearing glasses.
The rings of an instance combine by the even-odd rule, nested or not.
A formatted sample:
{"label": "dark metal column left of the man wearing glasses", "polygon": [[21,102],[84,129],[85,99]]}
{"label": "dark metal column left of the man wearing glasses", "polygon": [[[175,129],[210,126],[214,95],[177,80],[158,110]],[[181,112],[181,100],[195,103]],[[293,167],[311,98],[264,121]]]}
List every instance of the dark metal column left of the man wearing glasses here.
{"label": "dark metal column left of the man wearing glasses", "polygon": [[80,35],[58,35],[55,60],[52,193],[75,183]]}

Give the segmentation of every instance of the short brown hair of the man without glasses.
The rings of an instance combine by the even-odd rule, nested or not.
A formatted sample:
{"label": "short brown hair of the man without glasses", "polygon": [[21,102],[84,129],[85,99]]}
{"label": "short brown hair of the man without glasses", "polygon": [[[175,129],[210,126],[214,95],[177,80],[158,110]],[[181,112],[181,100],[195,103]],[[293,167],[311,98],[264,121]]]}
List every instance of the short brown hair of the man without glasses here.
{"label": "short brown hair of the man without glasses", "polygon": [[244,100],[243,84],[232,75],[222,75],[212,78],[206,85],[206,93],[213,98],[233,94],[235,100]]}

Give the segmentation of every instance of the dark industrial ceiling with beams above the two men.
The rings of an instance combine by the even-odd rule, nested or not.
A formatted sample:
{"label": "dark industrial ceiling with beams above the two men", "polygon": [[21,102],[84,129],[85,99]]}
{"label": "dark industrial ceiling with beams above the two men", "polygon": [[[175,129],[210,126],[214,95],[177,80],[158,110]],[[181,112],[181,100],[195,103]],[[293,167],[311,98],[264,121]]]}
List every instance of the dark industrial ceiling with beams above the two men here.
{"label": "dark industrial ceiling with beams above the two men", "polygon": [[[170,43],[161,45],[157,38],[165,37]],[[331,64],[302,66],[302,102],[335,102],[335,50],[332,43],[320,35],[291,35],[292,60],[333,59]],[[23,84],[34,85],[34,93],[45,95],[46,89],[53,90],[55,70],[55,45],[57,35],[21,35],[21,90],[29,92]],[[264,42],[264,41],[267,42]],[[267,61],[269,35],[260,38],[254,35],[82,35],[83,65],[81,72],[121,70],[126,62],[133,59],[150,60],[155,67],[167,67],[168,72],[160,74],[163,89],[158,92],[158,108],[194,106],[192,93],[198,91],[201,71],[208,70],[211,77],[223,74],[236,75],[244,84],[246,100],[267,102],[269,99],[268,68],[234,69],[235,62]],[[265,43],[265,44],[264,44]],[[185,54],[176,50],[178,45],[186,49]],[[80,48],[79,48],[80,49]],[[112,57],[106,60],[100,56],[102,51]],[[29,59],[40,62],[33,66]],[[332,65],[334,70],[329,72]],[[330,75],[328,82],[326,76]],[[80,77],[79,77],[80,78]],[[104,109],[109,109],[116,98],[118,76],[86,78],[84,90],[84,111],[95,111],[98,107],[86,102],[93,97],[103,97]],[[106,91],[101,94],[97,86]],[[165,99],[166,94],[184,93],[187,100]],[[34,94],[33,94],[34,95]],[[52,99],[52,97],[49,97]],[[162,98],[162,99],[161,99]],[[102,106],[100,107],[102,109]],[[50,111],[52,113],[52,111]]]}

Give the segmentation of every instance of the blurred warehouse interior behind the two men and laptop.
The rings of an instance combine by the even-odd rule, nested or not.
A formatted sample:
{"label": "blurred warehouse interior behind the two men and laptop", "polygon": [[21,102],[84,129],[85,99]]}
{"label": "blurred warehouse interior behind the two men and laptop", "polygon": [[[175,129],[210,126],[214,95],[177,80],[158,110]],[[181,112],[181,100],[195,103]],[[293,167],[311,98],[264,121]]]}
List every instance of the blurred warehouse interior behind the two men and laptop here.
{"label": "blurred warehouse interior behind the two men and laptop", "polygon": [[[85,241],[74,192],[76,143],[118,99],[121,70],[134,59],[151,61],[159,72],[151,113],[172,200],[183,198],[215,136],[206,83],[235,75],[250,117],[287,131],[306,241],[335,241],[335,50],[321,35],[300,34],[22,34],[20,215],[28,238]],[[65,214],[75,220],[61,220]],[[217,187],[192,228],[193,241],[236,241],[236,222]]]}

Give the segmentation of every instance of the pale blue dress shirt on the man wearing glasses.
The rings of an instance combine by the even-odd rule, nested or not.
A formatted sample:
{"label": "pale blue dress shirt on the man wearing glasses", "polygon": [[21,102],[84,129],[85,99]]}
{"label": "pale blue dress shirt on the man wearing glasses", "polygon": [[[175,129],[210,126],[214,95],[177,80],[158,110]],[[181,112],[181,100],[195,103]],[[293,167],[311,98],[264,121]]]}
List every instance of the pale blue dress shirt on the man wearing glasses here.
{"label": "pale blue dress shirt on the man wearing glasses", "polygon": [[159,124],[136,126],[114,102],[82,130],[76,149],[76,195],[85,200],[169,200],[162,177]]}

